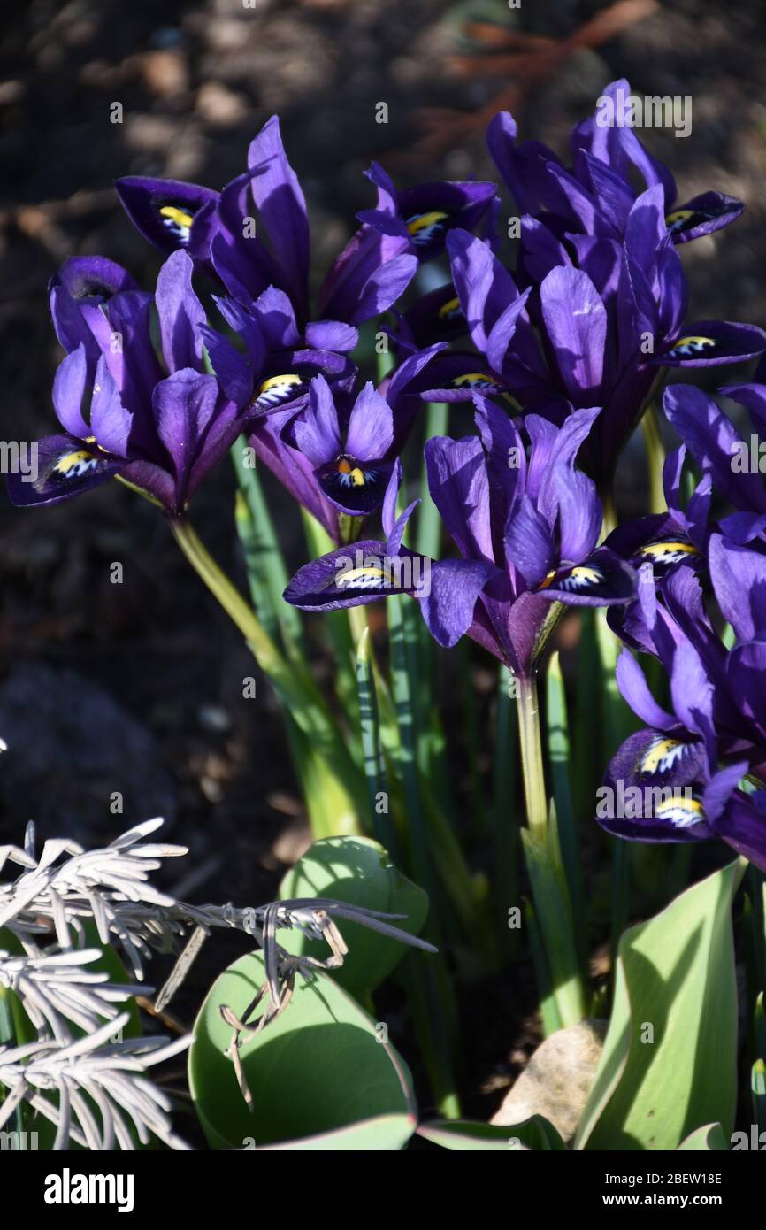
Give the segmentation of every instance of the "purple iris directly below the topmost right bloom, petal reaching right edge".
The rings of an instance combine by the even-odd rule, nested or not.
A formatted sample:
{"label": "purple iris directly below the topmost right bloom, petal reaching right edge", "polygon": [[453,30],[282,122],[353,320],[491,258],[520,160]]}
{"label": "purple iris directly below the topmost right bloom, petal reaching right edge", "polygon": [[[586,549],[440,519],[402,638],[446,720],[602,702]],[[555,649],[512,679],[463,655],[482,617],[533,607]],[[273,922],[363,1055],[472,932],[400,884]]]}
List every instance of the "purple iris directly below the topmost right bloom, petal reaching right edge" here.
{"label": "purple iris directly below the topmost right bloom, petal reaching right edge", "polygon": [[543,231],[539,223],[527,226],[537,245],[537,280],[524,290],[488,244],[465,231],[450,234],[452,280],[481,358],[445,354],[432,369],[439,385],[423,396],[456,401],[472,389],[491,389],[555,422],[572,406],[602,406],[583,456],[601,486],[611,480],[660,369],[750,358],[766,349],[766,335],[728,321],[684,325],[686,284],[659,187],[634,200],[625,242],[582,244],[579,266]]}

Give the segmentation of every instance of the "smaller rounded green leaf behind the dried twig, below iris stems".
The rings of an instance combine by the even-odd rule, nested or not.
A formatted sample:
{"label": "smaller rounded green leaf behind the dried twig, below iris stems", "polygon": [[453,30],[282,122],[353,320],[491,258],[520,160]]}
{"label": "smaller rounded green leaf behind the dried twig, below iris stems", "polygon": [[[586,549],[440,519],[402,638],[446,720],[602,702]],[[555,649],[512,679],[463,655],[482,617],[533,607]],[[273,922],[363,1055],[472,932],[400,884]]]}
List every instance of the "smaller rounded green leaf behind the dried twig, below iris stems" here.
{"label": "smaller rounded green leaf behind the dried twig, below iris stems", "polygon": [[[280,900],[296,897],[332,897],[338,902],[364,905],[386,914],[406,914],[395,926],[417,935],[428,914],[428,897],[398,871],[387,852],[370,838],[326,838],[315,841],[279,886]],[[386,978],[405,954],[405,946],[339,919],[349,952],[332,977],[347,990],[371,990]],[[300,931],[280,931],[279,942],[288,952],[307,953],[325,961],[325,942],[307,940]],[[425,957],[424,959],[428,959]]]}

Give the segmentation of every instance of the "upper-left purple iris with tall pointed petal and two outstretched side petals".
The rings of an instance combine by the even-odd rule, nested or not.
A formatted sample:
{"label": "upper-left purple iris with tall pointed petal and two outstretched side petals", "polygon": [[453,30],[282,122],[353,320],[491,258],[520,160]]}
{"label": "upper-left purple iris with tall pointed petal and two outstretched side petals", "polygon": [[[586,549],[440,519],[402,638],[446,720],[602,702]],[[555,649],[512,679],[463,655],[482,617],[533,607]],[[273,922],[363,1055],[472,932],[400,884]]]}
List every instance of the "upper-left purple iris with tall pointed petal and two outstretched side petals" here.
{"label": "upper-left purple iris with tall pointed petal and two outstretched side petals", "polygon": [[[450,226],[475,226],[497,192],[493,183],[472,182],[397,192],[373,165],[369,177],[379,189],[377,205],[360,214],[361,228],[331,266],[318,292],[321,319],[314,320],[306,203],[275,116],[251,143],[247,167],[220,193],[144,177],[119,180],[117,191],[148,240],[164,251],[186,247],[243,308],[269,287],[284,292],[302,341],[318,349],[339,349],[339,325],[359,325],[396,303],[418,262],[444,248]],[[343,347],[350,349],[355,331],[347,327],[344,336],[353,336]]]}

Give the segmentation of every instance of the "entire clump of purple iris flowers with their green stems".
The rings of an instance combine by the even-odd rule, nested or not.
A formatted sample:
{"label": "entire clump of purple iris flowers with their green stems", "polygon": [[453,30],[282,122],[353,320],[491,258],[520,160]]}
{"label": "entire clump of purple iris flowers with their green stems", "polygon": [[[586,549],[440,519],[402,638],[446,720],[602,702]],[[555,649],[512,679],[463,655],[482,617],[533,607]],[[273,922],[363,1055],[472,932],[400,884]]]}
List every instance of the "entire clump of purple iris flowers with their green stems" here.
{"label": "entire clump of purple iris flowers with their green stems", "polygon": [[[483,904],[450,825],[416,831],[421,811],[438,807],[418,775],[434,771],[443,732],[417,728],[433,663],[413,613],[439,646],[468,638],[497,659],[503,681],[519,685],[530,921],[557,1025],[590,1004],[572,938],[577,843],[571,830],[564,850],[558,836],[557,809],[573,808],[561,756],[551,807],[536,691],[567,608],[604,608],[582,613],[594,673],[609,676],[606,689],[616,676],[643,723],[627,738],[609,732],[598,777],[610,797],[636,788],[649,804],[639,814],[598,808],[598,823],[643,843],[721,839],[766,868],[766,488],[719,400],[684,383],[663,396],[687,370],[703,381],[711,367],[766,353],[759,327],[689,308],[685,245],[735,221],[744,204],[712,191],[679,204],[670,171],[620,114],[628,97],[627,82],[606,89],[616,122],[578,124],[568,160],[520,143],[513,117],[496,117],[499,186],[398,187],[373,164],[376,200],[349,223],[317,294],[306,203],[277,118],[220,191],[120,180],[130,220],[164,255],[156,288],[103,257],[64,263],[50,285],[64,351],[52,399],[59,429],[38,442],[34,475],[9,476],[18,506],[58,503],[112,477],[159,506],[278,692],[315,831],[366,825],[409,850],[424,883],[433,841],[466,914]],[[507,189],[519,214],[510,258],[499,228]],[[764,362],[752,381],[719,390],[745,407],[754,437],[766,432]],[[660,416],[680,437],[668,458]],[[642,419],[650,504],[626,520],[615,467]],[[246,451],[304,514],[306,554],[291,577],[259,476],[250,488],[242,478]],[[188,523],[229,453],[252,604]],[[389,597],[413,600],[389,608],[391,685],[364,610]],[[349,611],[348,626],[327,621],[332,697],[312,674],[298,610]],[[655,659],[652,679],[664,676],[666,695],[654,695],[642,654]],[[563,683],[558,692],[553,684],[548,701],[563,705]],[[551,747],[564,738],[548,736]],[[381,784],[395,771],[389,792]],[[498,791],[504,781],[498,771]],[[398,812],[386,828],[370,800],[389,793]],[[499,824],[513,800],[496,798],[494,811]],[[279,962],[269,967],[277,1006]]]}

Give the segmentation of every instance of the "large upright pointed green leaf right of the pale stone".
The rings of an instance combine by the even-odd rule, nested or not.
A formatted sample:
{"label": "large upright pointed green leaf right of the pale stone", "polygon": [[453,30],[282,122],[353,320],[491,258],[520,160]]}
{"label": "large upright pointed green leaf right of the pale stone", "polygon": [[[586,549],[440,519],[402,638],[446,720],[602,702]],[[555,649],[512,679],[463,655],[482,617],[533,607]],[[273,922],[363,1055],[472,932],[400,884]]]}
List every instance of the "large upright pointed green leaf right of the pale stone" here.
{"label": "large upright pointed green leaf right of the pale stone", "polygon": [[730,1137],[730,911],[741,875],[739,861],[729,863],[622,936],[612,1016],[577,1149],[677,1149],[700,1123],[721,1123]]}

